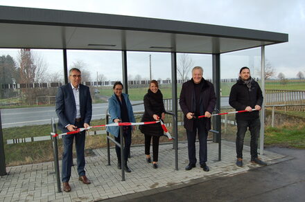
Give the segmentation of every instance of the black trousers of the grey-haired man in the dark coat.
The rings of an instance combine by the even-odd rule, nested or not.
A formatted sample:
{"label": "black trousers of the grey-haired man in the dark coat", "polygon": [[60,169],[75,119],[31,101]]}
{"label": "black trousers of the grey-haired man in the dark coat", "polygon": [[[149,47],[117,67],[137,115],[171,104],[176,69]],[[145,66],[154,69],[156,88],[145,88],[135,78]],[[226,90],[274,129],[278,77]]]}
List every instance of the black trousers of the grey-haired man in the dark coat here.
{"label": "black trousers of the grey-haired man in the dark coat", "polygon": [[189,163],[195,165],[196,159],[196,149],[195,140],[196,134],[198,134],[199,140],[199,163],[202,165],[207,162],[207,134],[208,131],[205,129],[204,124],[198,120],[194,121],[193,131],[186,130],[187,135],[187,146],[189,152]]}

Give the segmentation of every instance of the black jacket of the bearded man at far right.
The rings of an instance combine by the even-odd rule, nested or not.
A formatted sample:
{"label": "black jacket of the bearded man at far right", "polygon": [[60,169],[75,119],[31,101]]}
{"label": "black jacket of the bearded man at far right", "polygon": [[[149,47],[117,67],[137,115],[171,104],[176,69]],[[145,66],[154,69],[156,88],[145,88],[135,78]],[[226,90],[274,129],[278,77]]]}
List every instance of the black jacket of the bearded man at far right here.
{"label": "black jacket of the bearded man at far right", "polygon": [[[250,106],[252,109],[255,105],[261,106],[263,104],[263,93],[256,81],[252,81],[251,91],[249,91],[247,85],[243,84],[243,81],[238,80],[236,84],[232,86],[229,104],[236,109],[236,111],[245,110]],[[259,118],[259,111],[236,113],[236,120],[252,120]]]}

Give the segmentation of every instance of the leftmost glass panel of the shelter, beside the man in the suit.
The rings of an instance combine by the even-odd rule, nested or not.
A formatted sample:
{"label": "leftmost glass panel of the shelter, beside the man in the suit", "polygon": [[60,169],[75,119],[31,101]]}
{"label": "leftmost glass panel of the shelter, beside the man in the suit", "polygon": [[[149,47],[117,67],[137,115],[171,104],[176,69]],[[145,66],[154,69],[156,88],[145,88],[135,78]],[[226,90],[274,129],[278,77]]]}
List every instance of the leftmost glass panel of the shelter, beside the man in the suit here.
{"label": "leftmost glass panel of the shelter, beside the man in the suit", "polygon": [[0,58],[6,165],[51,160],[50,123],[64,82],[62,50],[0,49]]}

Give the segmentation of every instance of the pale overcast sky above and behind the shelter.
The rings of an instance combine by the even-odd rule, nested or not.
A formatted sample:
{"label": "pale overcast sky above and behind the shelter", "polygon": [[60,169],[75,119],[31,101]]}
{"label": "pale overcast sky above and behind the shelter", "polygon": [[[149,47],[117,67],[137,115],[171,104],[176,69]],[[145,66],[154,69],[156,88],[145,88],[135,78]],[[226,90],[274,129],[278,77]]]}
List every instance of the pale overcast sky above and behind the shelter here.
{"label": "pale overcast sky above and behind the shelter", "polygon": [[[286,75],[286,77],[296,77],[299,71],[302,71],[305,74],[304,0],[0,0],[0,5],[101,12],[137,17],[153,17],[159,19],[173,19],[178,21],[191,21],[204,24],[216,24],[222,26],[234,26],[239,28],[251,28],[255,30],[288,33],[289,42],[266,46],[265,57],[276,69],[277,74],[282,72]],[[3,50],[0,50],[0,55],[3,54]],[[159,77],[164,79],[166,77],[171,77],[171,61],[167,54],[168,53],[155,53],[152,56],[153,75],[155,79]],[[71,61],[73,61],[72,55]],[[114,62],[112,59],[112,63],[117,63],[117,65],[120,66],[121,55],[120,53],[117,53],[116,55],[118,55],[116,62]],[[241,56],[243,59],[241,59],[238,55],[243,55]],[[249,59],[244,55],[252,55],[253,59]],[[259,48],[223,55],[221,60],[221,77],[236,77],[236,72],[239,68],[241,68],[241,66],[252,64],[254,64],[254,66],[259,65],[259,56]],[[79,58],[77,54],[74,54],[73,57]],[[139,73],[139,68],[143,68],[143,65],[148,66],[148,57],[149,53],[141,53],[139,55],[130,53],[130,59],[128,61],[130,62],[128,66],[130,67],[130,75]],[[105,58],[107,58],[107,53],[105,53]],[[193,55],[192,59],[195,65],[204,66],[204,68],[207,69],[207,71],[204,72],[206,73],[205,77],[211,77],[211,61],[209,56]],[[92,61],[94,60],[95,59],[92,58]],[[53,59],[46,59],[46,61],[50,66],[62,65],[61,61],[56,62],[53,61]],[[107,59],[103,60],[103,62],[105,61],[107,61]],[[85,62],[89,63],[87,61]],[[92,64],[95,64],[96,66],[93,66]],[[102,65],[98,66],[98,62],[94,62],[92,64],[89,64],[89,66],[92,68],[92,72],[94,72],[97,68],[102,68]],[[157,66],[164,66],[162,73],[160,73],[160,71],[157,69]],[[230,69],[230,71],[227,71],[228,69]],[[108,75],[108,77],[112,79],[112,75],[110,75],[110,73],[105,72],[105,75]],[[143,77],[148,77],[148,71],[143,73]]]}

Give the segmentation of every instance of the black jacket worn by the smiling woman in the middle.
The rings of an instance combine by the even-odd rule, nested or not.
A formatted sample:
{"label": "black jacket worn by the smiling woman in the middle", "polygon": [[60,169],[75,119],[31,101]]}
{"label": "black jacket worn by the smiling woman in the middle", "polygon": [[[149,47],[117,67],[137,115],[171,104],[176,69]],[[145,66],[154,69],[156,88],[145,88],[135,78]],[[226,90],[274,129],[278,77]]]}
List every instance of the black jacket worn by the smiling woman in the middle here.
{"label": "black jacket worn by the smiling woman in the middle", "polygon": [[[157,93],[153,93],[148,89],[148,93],[144,95],[144,113],[141,119],[141,122],[155,121],[153,118],[154,114],[157,114],[159,118],[161,118],[161,114],[164,112],[164,103],[163,103],[163,95],[161,91],[157,91]],[[164,131],[159,123],[151,124],[151,125],[141,125],[139,127],[143,134],[161,136],[164,134]]]}

